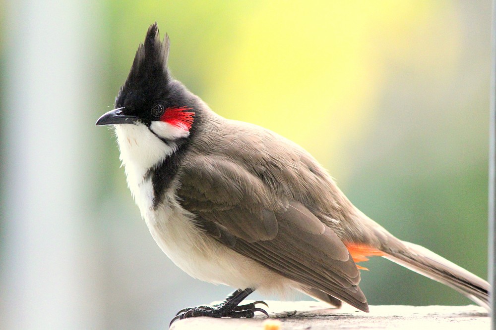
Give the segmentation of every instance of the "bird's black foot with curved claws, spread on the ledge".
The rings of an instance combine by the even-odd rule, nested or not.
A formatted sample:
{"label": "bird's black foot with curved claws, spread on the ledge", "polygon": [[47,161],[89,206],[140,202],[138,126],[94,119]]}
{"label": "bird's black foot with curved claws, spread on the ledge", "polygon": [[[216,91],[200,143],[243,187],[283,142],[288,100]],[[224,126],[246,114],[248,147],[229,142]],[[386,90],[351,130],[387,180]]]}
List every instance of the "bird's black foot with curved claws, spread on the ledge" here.
{"label": "bird's black foot with curved claws, spread on the ledge", "polygon": [[268,305],[263,301],[255,301],[246,305],[239,305],[234,307],[230,307],[225,303],[214,305],[212,307],[188,307],[180,310],[176,314],[176,317],[171,321],[171,325],[177,320],[183,320],[198,316],[208,316],[213,318],[252,318],[255,315],[255,312],[261,312],[266,316],[269,316],[269,314],[264,309],[255,307],[255,304],[264,304],[268,307]]}

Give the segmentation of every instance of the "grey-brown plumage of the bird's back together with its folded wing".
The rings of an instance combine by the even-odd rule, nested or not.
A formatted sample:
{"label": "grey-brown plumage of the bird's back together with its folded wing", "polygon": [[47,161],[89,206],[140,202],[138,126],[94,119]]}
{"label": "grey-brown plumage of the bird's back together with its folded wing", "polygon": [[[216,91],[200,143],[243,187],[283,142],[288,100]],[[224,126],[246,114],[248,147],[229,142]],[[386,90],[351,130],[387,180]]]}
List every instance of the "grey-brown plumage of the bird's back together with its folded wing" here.
{"label": "grey-brown plumage of the bird's back together with its folded wing", "polygon": [[272,132],[205,116],[210,133],[198,134],[178,176],[181,205],[229,248],[368,311],[360,272],[334,231],[341,231],[338,219],[350,216],[343,205],[351,204],[331,178]]}

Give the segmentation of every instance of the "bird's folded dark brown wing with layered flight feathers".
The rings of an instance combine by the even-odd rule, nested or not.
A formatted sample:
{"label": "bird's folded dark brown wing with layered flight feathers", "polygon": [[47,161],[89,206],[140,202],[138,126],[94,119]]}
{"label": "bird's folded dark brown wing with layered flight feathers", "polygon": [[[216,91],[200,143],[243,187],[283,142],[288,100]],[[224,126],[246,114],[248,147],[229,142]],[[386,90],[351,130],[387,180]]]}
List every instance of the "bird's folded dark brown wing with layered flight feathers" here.
{"label": "bird's folded dark brown wing with layered flight feathers", "polygon": [[239,164],[212,155],[188,162],[181,185],[182,206],[209,235],[309,290],[368,311],[347,248],[304,205],[276,197]]}

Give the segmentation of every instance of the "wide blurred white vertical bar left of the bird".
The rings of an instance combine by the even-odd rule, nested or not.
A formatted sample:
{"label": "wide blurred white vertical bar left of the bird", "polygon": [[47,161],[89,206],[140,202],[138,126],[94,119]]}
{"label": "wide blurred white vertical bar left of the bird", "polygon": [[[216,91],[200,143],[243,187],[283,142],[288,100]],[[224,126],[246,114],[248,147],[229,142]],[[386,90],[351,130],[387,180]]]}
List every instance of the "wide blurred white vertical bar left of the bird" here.
{"label": "wide blurred white vertical bar left of the bird", "polygon": [[0,328],[98,329],[83,205],[88,2],[7,5]]}

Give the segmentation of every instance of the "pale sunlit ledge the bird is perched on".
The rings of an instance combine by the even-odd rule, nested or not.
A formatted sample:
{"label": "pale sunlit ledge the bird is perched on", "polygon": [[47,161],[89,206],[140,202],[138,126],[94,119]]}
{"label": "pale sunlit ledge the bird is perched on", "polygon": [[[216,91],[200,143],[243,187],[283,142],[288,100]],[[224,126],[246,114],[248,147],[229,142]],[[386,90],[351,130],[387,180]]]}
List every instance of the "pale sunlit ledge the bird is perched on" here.
{"label": "pale sunlit ledge the bird is perched on", "polygon": [[[247,303],[251,301],[246,301]],[[340,309],[314,301],[281,302],[267,301],[270,314],[267,325],[264,315],[253,319],[191,318],[175,322],[171,330],[327,330],[327,329],[490,329],[486,310],[475,305],[468,306],[370,306],[364,313],[344,305]],[[265,307],[260,305],[259,307]],[[259,314],[259,313],[257,313]],[[264,324],[265,322],[265,324]]]}

